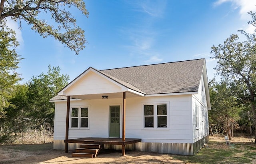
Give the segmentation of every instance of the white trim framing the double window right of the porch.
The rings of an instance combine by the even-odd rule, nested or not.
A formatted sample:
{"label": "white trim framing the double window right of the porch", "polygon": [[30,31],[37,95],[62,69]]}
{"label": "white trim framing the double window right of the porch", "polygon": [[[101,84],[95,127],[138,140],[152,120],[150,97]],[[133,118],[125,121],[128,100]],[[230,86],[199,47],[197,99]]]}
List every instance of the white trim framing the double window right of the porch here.
{"label": "white trim framing the double window right of the porch", "polygon": [[[166,119],[167,119],[167,127],[157,127],[157,105],[166,104]],[[170,130],[170,102],[144,102],[142,104],[142,130]],[[144,105],[153,105],[154,107],[154,127],[145,127],[145,116],[144,116]],[[162,115],[159,115],[162,116]]]}

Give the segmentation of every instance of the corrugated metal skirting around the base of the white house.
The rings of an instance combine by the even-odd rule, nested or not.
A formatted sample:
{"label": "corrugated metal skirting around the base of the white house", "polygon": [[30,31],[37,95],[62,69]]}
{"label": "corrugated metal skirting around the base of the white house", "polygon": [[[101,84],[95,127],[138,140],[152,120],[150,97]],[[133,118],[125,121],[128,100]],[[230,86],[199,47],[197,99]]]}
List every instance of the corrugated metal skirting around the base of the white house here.
{"label": "corrugated metal skirting around the base of the white house", "polygon": [[[190,143],[152,143],[152,142],[137,142],[134,144],[128,144],[125,146],[126,150],[137,150],[142,152],[158,152],[166,154],[181,154],[181,155],[193,155],[200,148],[204,146],[206,142],[209,142],[209,136],[202,138],[201,140]],[[69,150],[74,150],[79,147],[79,144],[68,144]],[[54,149],[64,149],[64,140],[54,140]],[[105,149],[122,150],[122,145],[105,145]]]}

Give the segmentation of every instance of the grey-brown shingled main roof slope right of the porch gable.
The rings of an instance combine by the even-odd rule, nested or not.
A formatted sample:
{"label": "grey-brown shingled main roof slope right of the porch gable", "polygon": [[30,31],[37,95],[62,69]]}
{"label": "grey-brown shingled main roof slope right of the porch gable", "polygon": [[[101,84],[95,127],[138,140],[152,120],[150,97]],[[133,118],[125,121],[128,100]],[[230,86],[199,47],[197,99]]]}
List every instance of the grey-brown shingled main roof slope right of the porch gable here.
{"label": "grey-brown shingled main roof slope right of the porch gable", "polygon": [[[205,59],[100,70],[113,80],[128,83],[144,94],[196,92]],[[125,85],[126,86],[126,85]],[[133,86],[131,88],[131,86]]]}

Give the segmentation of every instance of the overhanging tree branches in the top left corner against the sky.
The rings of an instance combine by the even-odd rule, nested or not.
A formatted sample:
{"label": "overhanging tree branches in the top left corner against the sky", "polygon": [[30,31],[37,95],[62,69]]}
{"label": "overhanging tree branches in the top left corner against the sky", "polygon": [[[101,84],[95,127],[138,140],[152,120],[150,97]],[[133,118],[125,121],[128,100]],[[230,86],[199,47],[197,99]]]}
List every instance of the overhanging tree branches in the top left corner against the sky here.
{"label": "overhanging tree branches in the top left corner against the sky", "polygon": [[[86,40],[84,30],[76,25],[76,19],[68,11],[72,7],[88,17],[83,0],[1,0],[0,24],[4,24],[9,17],[18,21],[21,28],[24,20],[43,38],[52,36],[78,54],[85,47]],[[47,17],[44,14],[48,13],[55,23],[40,19]]]}

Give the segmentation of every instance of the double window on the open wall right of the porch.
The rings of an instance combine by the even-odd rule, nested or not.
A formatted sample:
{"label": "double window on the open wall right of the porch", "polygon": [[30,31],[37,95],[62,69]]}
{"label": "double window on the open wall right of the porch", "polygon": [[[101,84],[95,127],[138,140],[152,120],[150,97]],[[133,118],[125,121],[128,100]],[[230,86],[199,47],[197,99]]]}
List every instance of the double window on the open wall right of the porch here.
{"label": "double window on the open wall right of the porch", "polygon": [[143,129],[167,129],[168,126],[168,103],[144,104]]}

